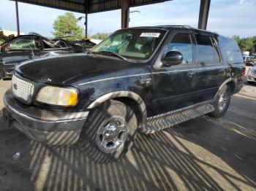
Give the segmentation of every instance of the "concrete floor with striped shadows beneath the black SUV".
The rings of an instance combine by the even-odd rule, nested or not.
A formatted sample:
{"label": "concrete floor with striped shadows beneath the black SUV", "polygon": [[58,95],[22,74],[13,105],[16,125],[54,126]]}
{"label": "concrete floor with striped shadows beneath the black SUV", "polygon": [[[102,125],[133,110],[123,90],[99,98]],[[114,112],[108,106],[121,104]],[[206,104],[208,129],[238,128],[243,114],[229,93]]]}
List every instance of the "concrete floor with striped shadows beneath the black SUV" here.
{"label": "concrete floor with striped shadows beneath the black SUV", "polygon": [[[0,99],[10,81],[0,81]],[[2,103],[0,101],[0,111]],[[53,148],[7,128],[0,112],[0,190],[256,190],[256,85],[225,117],[198,117],[148,136],[116,163]],[[20,160],[12,160],[21,152]]]}

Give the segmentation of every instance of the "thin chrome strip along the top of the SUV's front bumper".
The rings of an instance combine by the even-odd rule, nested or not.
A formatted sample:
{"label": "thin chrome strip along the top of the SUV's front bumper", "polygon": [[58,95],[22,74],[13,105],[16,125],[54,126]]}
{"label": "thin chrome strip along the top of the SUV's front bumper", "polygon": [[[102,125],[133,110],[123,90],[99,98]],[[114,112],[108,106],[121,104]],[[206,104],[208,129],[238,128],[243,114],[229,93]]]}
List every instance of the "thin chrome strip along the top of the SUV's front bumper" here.
{"label": "thin chrome strip along the top of the SUV's front bumper", "polygon": [[9,110],[9,112],[16,115],[16,117],[23,117],[23,118],[26,118],[26,120],[31,120],[33,122],[50,122],[50,123],[52,123],[52,122],[54,122],[54,123],[56,123],[56,122],[72,122],[72,121],[77,121],[77,120],[86,120],[86,118],[89,114],[89,112],[84,112],[86,114],[86,117],[78,118],[78,119],[72,119],[72,120],[55,120],[55,121],[37,120],[33,117],[30,117],[27,114],[23,114],[22,112],[19,112],[17,109],[14,109],[12,106],[9,106],[5,103],[6,103],[6,101],[5,101],[5,97],[4,97],[4,105]]}

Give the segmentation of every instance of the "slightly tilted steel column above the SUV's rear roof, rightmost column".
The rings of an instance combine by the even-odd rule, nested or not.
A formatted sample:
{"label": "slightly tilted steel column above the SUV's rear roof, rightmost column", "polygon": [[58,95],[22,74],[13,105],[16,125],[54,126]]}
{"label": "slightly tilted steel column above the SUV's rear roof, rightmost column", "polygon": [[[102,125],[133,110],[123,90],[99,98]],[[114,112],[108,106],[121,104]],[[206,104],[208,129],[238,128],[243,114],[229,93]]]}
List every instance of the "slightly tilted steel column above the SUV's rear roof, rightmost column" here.
{"label": "slightly tilted steel column above the SUV's rear roof, rightmost column", "polygon": [[206,30],[210,4],[211,0],[201,0],[200,2],[200,12],[198,19],[198,28],[200,29]]}

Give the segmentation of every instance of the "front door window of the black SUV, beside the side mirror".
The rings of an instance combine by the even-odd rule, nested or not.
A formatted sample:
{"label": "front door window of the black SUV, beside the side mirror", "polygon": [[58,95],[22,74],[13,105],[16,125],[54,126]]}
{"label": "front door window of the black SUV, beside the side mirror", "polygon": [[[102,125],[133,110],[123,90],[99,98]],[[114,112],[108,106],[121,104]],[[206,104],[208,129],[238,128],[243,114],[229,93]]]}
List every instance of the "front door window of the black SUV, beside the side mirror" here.
{"label": "front door window of the black SUV, beside the side mirror", "polygon": [[178,51],[183,55],[184,64],[193,63],[192,42],[189,34],[176,34],[167,44],[166,52]]}

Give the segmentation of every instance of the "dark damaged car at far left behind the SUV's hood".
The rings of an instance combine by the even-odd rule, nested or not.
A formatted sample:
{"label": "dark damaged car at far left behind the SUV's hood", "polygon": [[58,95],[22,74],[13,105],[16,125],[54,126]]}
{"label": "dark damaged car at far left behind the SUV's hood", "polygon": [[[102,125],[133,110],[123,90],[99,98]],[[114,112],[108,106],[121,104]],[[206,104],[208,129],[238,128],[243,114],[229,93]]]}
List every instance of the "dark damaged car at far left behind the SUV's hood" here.
{"label": "dark damaged car at far left behind the SUV's hood", "polygon": [[75,52],[71,44],[61,39],[51,41],[35,33],[9,39],[0,49],[0,79],[11,78],[15,66],[23,61]]}

